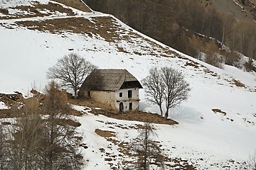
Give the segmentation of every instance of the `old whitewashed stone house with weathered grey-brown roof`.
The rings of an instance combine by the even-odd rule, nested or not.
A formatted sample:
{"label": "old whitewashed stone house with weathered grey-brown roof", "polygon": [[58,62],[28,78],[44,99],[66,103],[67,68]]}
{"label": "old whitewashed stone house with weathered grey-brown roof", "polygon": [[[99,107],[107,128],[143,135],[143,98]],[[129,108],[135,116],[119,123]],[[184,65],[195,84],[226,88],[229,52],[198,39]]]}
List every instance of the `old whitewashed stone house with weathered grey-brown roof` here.
{"label": "old whitewashed stone house with weathered grey-brown roof", "polygon": [[79,95],[111,106],[115,110],[139,109],[142,85],[126,69],[95,69],[87,76]]}

